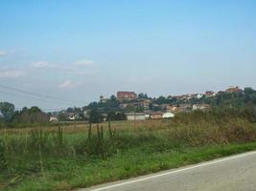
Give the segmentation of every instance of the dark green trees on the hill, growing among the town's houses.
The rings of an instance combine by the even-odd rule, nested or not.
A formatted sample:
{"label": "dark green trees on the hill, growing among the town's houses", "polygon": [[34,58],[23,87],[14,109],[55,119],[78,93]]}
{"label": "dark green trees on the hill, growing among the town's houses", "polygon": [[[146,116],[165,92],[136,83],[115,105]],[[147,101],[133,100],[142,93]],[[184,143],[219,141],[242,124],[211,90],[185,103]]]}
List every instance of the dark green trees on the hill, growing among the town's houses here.
{"label": "dark green trees on the hill, growing among the town's houses", "polygon": [[[149,109],[152,111],[160,111],[160,107],[163,104],[170,105],[180,105],[180,104],[210,104],[212,107],[234,107],[234,108],[244,108],[244,107],[256,107],[256,91],[252,88],[244,88],[242,92],[239,93],[227,93],[219,92],[216,96],[206,96],[203,95],[200,98],[193,97],[190,99],[179,99],[176,96],[159,96],[150,97],[147,94],[140,93],[138,95],[138,100],[149,99],[151,104]],[[111,96],[105,102],[91,102],[87,106],[83,107],[84,110],[98,110],[101,113],[108,113],[111,111],[115,112],[144,112],[144,108],[141,106],[134,106],[132,103],[136,100],[123,100],[123,104],[127,104],[126,108],[122,108],[121,101],[119,101],[115,96]],[[155,106],[156,105],[156,106]]]}

